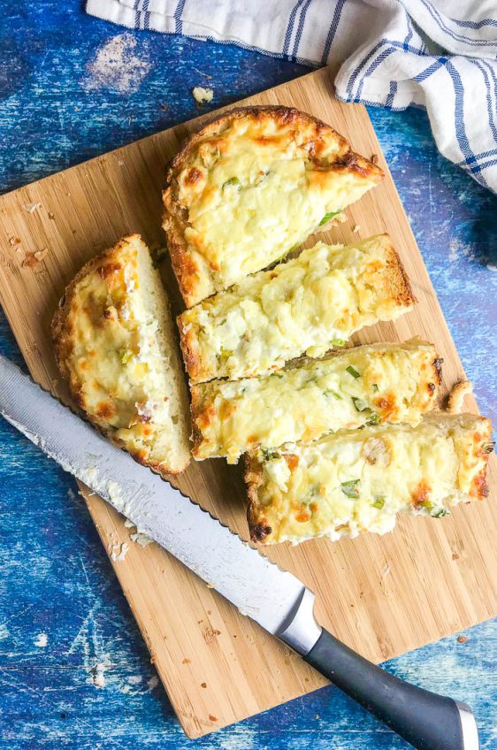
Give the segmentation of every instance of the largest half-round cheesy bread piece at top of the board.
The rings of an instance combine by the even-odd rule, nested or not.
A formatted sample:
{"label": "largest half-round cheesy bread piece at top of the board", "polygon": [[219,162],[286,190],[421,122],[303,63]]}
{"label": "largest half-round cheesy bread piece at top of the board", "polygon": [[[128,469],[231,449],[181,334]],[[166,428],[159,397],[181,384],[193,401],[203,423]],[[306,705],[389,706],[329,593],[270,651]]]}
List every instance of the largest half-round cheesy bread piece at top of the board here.
{"label": "largest half-round cheesy bread piece at top of the board", "polygon": [[285,256],[383,176],[332,127],[287,107],[236,109],[203,127],[163,195],[187,307]]}

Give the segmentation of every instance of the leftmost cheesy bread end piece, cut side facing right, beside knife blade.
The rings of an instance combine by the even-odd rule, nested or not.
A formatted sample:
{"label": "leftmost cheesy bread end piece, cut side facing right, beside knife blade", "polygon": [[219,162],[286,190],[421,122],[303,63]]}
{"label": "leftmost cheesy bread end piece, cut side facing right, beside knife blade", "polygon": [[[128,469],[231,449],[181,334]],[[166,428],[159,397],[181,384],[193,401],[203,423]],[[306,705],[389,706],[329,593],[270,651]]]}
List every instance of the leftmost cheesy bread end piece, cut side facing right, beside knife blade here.
{"label": "leftmost cheesy bread end piece, cut side facing right, beside knife blade", "polygon": [[140,463],[189,463],[187,388],[169,302],[139,234],[77,274],[52,323],[57,364],[105,435]]}

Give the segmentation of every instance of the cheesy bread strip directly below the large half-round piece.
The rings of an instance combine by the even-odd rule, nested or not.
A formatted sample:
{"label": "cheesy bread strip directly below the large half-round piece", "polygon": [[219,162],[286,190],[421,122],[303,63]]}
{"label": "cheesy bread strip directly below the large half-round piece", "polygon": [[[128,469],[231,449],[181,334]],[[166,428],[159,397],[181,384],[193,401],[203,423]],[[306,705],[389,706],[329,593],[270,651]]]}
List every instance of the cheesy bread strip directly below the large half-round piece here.
{"label": "cheesy bread strip directly below the large half-round piece", "polygon": [[181,348],[193,383],[251,378],[303,353],[323,356],[414,302],[387,234],[347,247],[318,242],[182,313]]}

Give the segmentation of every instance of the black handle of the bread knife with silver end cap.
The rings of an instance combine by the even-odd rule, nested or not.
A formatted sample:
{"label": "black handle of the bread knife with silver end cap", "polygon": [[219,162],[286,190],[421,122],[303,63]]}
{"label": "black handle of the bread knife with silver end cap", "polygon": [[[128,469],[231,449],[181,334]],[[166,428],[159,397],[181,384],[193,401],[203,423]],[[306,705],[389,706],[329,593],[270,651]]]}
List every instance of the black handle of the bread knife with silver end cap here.
{"label": "black handle of the bread knife with silver end cap", "polygon": [[331,633],[303,659],[417,750],[478,750],[470,708],[381,670]]}

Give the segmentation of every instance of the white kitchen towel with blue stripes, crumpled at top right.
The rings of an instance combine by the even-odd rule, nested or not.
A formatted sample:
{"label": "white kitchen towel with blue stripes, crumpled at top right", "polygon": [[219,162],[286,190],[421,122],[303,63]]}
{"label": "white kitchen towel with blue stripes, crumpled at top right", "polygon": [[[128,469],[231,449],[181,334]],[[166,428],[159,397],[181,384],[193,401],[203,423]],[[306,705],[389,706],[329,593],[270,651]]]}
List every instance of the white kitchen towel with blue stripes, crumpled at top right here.
{"label": "white kitchen towel with blue stripes, crumpled at top right", "polygon": [[428,112],[440,152],[497,193],[495,0],[87,0],[137,29],[340,63],[347,102]]}

